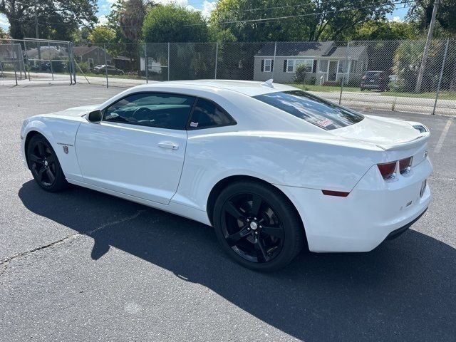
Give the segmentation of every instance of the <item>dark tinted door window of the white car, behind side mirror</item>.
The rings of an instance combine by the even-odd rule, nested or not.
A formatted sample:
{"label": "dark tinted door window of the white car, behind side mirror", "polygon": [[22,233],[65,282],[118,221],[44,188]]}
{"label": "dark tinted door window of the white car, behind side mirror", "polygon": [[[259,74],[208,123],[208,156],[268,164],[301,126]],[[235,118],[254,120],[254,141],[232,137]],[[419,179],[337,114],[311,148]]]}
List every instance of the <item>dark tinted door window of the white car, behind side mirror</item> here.
{"label": "dark tinted door window of the white car, behind side mirror", "polygon": [[105,109],[103,121],[185,130],[195,98],[170,93],[137,93]]}

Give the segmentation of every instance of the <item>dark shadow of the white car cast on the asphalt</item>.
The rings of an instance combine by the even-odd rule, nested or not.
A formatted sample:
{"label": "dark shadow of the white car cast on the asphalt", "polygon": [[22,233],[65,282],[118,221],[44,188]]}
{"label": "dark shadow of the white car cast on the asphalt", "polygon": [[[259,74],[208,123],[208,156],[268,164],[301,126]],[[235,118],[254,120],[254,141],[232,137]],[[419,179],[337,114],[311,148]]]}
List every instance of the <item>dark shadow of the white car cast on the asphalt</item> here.
{"label": "dark shadow of the white car cast on the asphalt", "polygon": [[370,253],[303,253],[286,269],[261,274],[227,258],[204,224],[79,187],[51,194],[30,181],[19,197],[81,234],[102,228],[90,234],[93,259],[110,246],[122,249],[305,341],[456,336],[456,250],[414,230]]}

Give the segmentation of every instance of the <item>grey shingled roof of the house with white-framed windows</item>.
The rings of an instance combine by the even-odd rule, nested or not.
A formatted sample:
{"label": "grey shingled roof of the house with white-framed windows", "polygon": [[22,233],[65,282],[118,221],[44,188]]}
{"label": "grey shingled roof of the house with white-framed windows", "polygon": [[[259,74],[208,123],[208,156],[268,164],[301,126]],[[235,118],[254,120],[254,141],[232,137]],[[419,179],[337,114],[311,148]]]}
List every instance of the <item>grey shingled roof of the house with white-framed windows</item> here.
{"label": "grey shingled roof of the house with white-framed windows", "polygon": [[[274,47],[274,43],[265,43],[255,56],[274,56]],[[348,49],[348,56],[359,58],[363,51],[366,51],[366,46],[352,46]],[[336,46],[334,41],[279,42],[276,48],[276,56],[345,58],[346,53],[346,46]]]}

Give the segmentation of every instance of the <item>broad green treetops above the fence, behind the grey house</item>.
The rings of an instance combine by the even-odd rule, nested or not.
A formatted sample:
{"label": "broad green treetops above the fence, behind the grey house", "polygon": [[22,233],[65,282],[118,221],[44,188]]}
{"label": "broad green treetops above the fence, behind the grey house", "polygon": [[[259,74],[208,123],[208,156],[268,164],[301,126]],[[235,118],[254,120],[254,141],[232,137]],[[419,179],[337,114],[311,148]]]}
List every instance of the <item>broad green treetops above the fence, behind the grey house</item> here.
{"label": "broad green treetops above the fence, behind the grey house", "polygon": [[[210,22],[238,41],[336,40],[393,9],[392,0],[219,0]],[[279,19],[258,21],[271,18]]]}

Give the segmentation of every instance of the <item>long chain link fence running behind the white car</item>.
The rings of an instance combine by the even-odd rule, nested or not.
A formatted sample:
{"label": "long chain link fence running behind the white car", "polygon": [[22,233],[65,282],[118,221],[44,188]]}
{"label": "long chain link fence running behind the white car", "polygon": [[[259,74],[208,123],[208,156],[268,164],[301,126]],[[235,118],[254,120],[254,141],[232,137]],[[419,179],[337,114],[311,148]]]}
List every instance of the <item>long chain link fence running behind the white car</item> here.
{"label": "long chain link fence running behind the white car", "polygon": [[[456,115],[456,40],[113,43],[0,40],[0,82],[129,87],[232,79],[285,83],[361,110]],[[73,79],[71,78],[73,74]]]}

